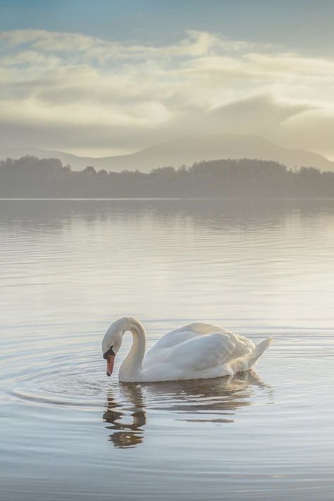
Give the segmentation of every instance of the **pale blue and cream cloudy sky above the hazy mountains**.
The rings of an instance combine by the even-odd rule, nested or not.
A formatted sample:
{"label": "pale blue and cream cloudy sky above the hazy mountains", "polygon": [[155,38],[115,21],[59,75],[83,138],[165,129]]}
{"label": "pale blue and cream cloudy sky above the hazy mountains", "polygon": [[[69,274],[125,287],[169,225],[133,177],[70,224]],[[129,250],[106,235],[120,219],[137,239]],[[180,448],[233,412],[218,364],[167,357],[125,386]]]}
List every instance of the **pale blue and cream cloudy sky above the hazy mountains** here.
{"label": "pale blue and cream cloudy sky above the hazy mountains", "polygon": [[334,158],[332,0],[0,0],[0,147],[257,134]]}

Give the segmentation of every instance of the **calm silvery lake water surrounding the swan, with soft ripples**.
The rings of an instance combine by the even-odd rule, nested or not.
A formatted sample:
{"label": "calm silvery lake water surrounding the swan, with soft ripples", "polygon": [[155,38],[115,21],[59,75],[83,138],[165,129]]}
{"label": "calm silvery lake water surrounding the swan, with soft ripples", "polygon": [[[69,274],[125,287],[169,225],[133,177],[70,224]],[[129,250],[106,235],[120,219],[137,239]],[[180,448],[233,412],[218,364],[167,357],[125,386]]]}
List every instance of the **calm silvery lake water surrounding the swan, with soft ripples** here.
{"label": "calm silvery lake water surrounding the swan, with soft ripples", "polygon": [[[0,201],[0,499],[331,500],[334,201]],[[101,338],[192,321],[256,372],[105,376]]]}

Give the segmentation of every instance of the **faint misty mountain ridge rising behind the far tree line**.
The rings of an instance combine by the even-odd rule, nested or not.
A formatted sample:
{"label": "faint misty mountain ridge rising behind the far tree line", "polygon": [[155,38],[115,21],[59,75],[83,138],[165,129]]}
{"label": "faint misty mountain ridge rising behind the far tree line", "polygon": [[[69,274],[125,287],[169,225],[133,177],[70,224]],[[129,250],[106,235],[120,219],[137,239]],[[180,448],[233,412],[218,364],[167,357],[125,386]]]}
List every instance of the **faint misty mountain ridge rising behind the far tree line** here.
{"label": "faint misty mountain ridge rising behind the far tree line", "polygon": [[80,157],[61,151],[37,148],[0,148],[2,158],[19,158],[25,154],[39,158],[60,158],[64,165],[70,164],[73,170],[82,170],[87,165],[92,165],[96,170],[120,172],[138,169],[142,172],[149,172],[156,167],[180,167],[180,165],[192,165],[200,160],[258,158],[259,160],[276,160],[287,167],[317,167],[320,170],[334,171],[334,162],[330,162],[318,153],[285,148],[248,134],[187,136],[156,144],[130,155],[103,158]]}

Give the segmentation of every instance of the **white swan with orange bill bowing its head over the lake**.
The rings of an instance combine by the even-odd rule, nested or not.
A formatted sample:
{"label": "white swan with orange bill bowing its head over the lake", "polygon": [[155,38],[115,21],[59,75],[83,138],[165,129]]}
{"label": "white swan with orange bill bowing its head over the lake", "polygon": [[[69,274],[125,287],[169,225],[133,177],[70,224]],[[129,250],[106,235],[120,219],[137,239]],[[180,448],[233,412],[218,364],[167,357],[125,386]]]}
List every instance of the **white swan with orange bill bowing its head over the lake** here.
{"label": "white swan with orange bill bowing its head over the lake", "polygon": [[168,332],[145,355],[144,327],[133,317],[123,317],[109,326],[102,340],[107,376],[113,372],[123,335],[128,331],[132,346],[118,372],[119,380],[127,383],[233,376],[252,369],[273,340],[267,338],[255,345],[227,329],[194,323]]}

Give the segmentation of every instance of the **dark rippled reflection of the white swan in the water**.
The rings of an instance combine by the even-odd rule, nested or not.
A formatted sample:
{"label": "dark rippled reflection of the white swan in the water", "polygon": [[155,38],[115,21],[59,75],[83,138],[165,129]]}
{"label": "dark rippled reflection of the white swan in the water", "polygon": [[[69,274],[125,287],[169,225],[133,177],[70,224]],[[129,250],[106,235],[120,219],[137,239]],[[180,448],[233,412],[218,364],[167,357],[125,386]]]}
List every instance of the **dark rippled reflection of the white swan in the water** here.
{"label": "dark rippled reflection of the white swan in the water", "polygon": [[252,405],[254,386],[270,386],[254,371],[236,376],[161,383],[120,383],[118,398],[113,391],[107,395],[103,414],[107,429],[113,431],[109,440],[117,448],[136,447],[144,440],[144,426],[149,410],[174,412],[175,419],[193,423],[233,423],[240,407]]}

